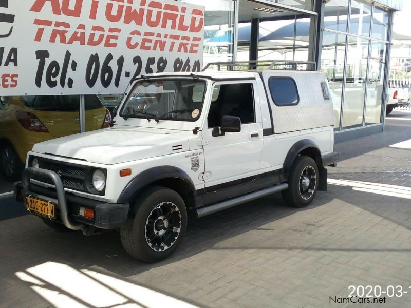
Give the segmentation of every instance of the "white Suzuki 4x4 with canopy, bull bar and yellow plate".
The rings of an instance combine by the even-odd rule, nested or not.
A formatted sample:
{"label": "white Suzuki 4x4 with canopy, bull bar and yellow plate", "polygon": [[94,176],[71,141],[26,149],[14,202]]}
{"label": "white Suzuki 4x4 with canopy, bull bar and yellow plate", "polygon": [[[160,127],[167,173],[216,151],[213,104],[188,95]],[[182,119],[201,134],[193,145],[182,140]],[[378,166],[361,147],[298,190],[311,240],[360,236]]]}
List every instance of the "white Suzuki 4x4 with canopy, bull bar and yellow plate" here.
{"label": "white Suzuki 4x4 with canopy, bull bar and yellow plate", "polygon": [[321,72],[142,75],[112,127],[34,145],[15,197],[52,228],[118,229],[130,255],[156,262],[175,251],[190,212],[279,191],[308,205],[339,158],[333,125]]}

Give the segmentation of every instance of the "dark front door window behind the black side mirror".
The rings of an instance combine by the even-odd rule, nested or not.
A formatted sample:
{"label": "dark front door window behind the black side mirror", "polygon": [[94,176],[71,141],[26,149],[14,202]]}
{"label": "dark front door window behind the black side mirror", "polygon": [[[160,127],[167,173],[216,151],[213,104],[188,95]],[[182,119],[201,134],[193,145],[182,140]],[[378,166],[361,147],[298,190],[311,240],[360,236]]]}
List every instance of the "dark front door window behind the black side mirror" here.
{"label": "dark front door window behind the black side mirror", "polygon": [[239,117],[241,124],[254,123],[254,94],[251,83],[216,85],[213,88],[208,127],[221,126],[225,115]]}

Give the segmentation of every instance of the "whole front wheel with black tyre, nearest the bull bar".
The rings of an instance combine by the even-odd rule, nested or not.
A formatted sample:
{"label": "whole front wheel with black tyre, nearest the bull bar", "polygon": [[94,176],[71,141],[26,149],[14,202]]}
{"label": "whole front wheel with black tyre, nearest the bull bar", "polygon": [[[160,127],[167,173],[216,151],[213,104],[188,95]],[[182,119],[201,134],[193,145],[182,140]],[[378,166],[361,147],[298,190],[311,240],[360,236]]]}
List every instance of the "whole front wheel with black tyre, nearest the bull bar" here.
{"label": "whole front wheel with black tyre, nearest the bull bar", "polygon": [[120,229],[124,249],[133,258],[147,263],[169,257],[187,227],[187,210],[180,195],[169,188],[152,186],[133,205]]}

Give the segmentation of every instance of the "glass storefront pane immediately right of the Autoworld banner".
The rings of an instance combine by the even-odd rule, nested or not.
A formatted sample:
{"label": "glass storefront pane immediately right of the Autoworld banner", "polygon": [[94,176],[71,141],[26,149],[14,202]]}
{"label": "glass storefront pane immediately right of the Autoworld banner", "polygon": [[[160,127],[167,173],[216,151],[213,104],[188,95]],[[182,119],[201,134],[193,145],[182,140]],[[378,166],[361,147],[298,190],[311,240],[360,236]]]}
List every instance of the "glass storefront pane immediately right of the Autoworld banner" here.
{"label": "glass storefront pane immediately right of the Autoworld banner", "polygon": [[[199,4],[197,0],[183,2]],[[234,1],[208,0],[201,5],[206,8],[203,66],[210,62],[233,61]]]}

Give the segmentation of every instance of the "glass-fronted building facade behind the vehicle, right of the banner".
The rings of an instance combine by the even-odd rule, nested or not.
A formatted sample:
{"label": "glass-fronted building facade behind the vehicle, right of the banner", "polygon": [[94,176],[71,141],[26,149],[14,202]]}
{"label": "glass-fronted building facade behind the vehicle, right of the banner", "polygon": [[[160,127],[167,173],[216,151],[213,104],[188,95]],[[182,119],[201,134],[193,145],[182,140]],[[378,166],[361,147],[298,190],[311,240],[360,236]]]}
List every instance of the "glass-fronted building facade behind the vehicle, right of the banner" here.
{"label": "glass-fronted building facade behind the vehicle, right of the banner", "polygon": [[401,7],[399,0],[211,0],[204,63],[314,61],[330,84],[335,140],[381,132],[389,42]]}

